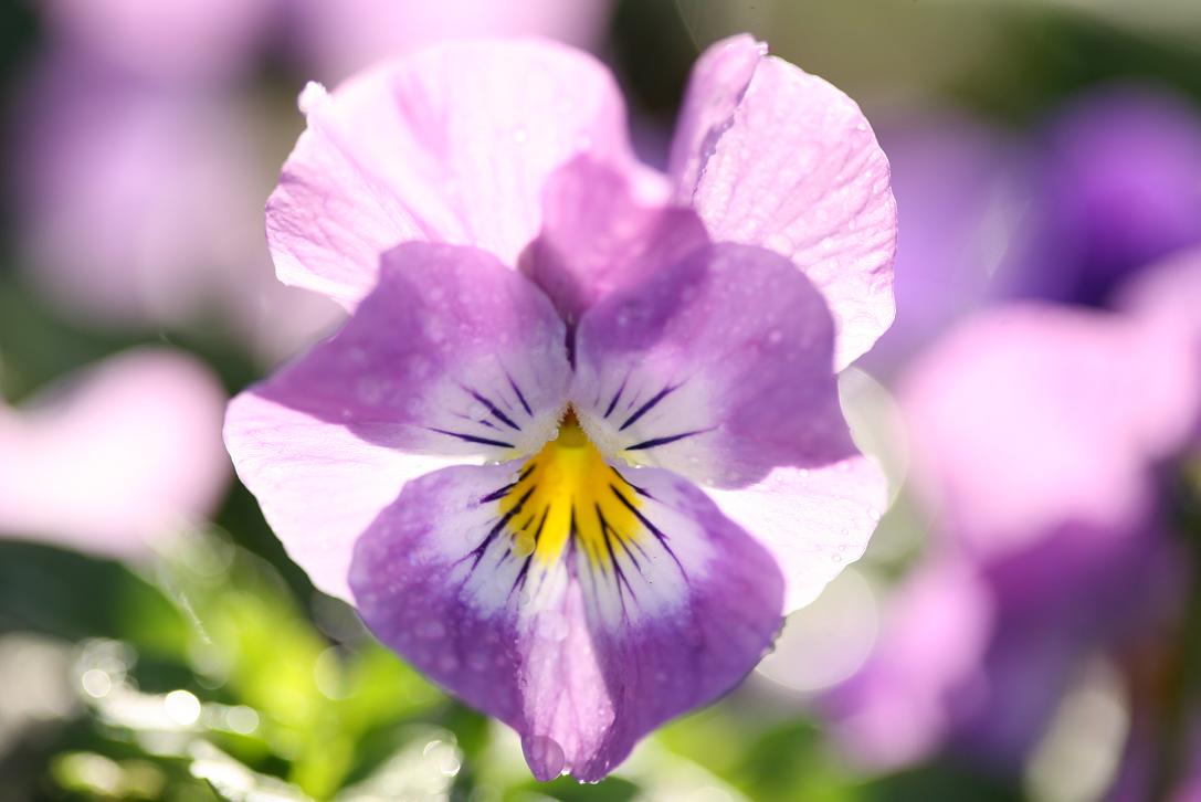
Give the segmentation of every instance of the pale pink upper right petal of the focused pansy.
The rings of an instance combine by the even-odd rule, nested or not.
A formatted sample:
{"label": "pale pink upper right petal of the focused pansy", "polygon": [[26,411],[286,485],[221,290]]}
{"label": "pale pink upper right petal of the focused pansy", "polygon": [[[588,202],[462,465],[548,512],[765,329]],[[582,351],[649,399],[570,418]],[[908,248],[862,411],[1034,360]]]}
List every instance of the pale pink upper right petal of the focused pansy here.
{"label": "pale pink upper right petal of the focused pansy", "polygon": [[805,271],[833,312],[839,369],[871,348],[894,317],[896,203],[854,101],[739,37],[698,61],[676,136],[677,200],[715,240],[761,245]]}

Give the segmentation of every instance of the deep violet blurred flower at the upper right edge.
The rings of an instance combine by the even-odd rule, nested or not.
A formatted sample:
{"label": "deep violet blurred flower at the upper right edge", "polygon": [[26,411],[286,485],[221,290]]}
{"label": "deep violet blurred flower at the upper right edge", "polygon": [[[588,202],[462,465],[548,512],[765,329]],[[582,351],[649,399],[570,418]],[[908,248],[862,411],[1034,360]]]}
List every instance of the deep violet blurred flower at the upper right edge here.
{"label": "deep violet blurred flower at the upper right edge", "polygon": [[1011,292],[1106,305],[1125,276],[1201,245],[1201,115],[1112,86],[1064,108],[1038,154],[1039,225]]}

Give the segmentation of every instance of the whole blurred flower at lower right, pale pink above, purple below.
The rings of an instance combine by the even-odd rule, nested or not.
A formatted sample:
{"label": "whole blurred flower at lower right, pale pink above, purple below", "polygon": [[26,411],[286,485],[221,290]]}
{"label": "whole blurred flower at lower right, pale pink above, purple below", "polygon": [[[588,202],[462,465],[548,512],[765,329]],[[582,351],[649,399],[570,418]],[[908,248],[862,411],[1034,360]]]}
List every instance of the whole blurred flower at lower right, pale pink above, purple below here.
{"label": "whole blurred flower at lower right, pale pink above, purple below", "polygon": [[[864,760],[946,744],[1012,767],[1083,656],[1178,605],[1185,562],[1159,479],[1195,436],[1201,341],[1152,306],[1003,305],[910,366],[912,481],[936,540],[880,648],[831,700]],[[948,629],[969,647],[921,647]]]}

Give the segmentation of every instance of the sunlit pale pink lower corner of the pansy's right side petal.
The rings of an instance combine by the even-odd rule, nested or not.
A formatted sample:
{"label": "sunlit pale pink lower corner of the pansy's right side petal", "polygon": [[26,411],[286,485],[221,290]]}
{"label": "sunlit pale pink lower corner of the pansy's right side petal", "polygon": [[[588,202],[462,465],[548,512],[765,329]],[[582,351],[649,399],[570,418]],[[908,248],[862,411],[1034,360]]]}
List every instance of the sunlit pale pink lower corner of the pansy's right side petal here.
{"label": "sunlit pale pink lower corner of the pansy's right side petal", "polygon": [[779,467],[749,487],[705,492],[776,559],[785,615],[859,559],[888,504],[884,473],[860,455],[817,469]]}

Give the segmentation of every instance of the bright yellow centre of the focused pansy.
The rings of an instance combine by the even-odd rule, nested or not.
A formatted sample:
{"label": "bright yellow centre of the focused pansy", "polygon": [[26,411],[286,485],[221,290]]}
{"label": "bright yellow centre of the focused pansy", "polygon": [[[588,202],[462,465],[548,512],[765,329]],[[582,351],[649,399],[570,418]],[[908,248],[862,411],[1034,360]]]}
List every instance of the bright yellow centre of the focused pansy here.
{"label": "bright yellow centre of the focused pansy", "polygon": [[554,563],[569,543],[598,565],[637,549],[639,491],[604,457],[568,408],[558,436],[532,456],[500,499],[513,551]]}

